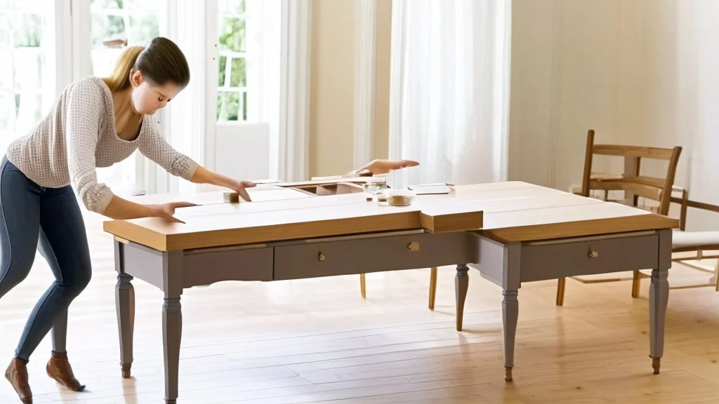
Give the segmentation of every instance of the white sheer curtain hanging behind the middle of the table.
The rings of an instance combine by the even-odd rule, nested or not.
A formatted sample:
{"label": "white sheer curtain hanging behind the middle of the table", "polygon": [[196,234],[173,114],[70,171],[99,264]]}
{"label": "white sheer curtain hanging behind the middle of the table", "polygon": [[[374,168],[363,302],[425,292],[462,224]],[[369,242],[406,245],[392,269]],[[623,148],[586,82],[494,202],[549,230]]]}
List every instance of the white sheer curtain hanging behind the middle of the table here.
{"label": "white sheer curtain hanging behind the middle of the table", "polygon": [[510,0],[395,0],[390,158],[421,165],[393,187],[506,179]]}

